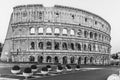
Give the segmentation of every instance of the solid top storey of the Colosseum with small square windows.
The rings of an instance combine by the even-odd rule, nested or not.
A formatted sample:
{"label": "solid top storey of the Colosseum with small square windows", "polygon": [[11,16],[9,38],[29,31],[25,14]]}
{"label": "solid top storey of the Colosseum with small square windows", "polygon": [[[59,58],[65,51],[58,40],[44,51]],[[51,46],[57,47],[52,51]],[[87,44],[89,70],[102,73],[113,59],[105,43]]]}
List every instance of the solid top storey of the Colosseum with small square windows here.
{"label": "solid top storey of the Colosseum with small square windows", "polygon": [[91,27],[110,35],[109,23],[100,16],[91,12],[55,5],[44,7],[43,5],[21,5],[13,8],[12,24],[24,22],[52,22],[74,24]]}

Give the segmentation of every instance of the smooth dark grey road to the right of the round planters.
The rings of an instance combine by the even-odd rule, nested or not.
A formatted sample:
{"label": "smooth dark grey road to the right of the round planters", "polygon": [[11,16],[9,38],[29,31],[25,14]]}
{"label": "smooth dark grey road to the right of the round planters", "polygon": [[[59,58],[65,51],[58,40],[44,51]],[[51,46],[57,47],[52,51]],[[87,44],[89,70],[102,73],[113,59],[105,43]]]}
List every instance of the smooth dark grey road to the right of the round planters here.
{"label": "smooth dark grey road to the right of the round planters", "polygon": [[[118,74],[118,69],[98,69],[79,71],[69,74],[62,74],[52,77],[41,78],[40,80],[106,80],[110,74]],[[39,80],[39,79],[34,79]]]}

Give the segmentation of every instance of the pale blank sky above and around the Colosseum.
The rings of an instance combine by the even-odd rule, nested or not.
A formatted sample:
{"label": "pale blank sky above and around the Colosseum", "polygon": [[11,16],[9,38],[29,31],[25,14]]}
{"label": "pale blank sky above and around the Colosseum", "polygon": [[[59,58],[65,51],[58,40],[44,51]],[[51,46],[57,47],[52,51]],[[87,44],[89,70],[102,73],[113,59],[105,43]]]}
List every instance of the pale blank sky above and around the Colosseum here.
{"label": "pale blank sky above and around the Colosseum", "polygon": [[120,0],[1,0],[0,42],[4,43],[13,7],[26,4],[63,5],[95,13],[111,25],[111,53],[120,51]]}

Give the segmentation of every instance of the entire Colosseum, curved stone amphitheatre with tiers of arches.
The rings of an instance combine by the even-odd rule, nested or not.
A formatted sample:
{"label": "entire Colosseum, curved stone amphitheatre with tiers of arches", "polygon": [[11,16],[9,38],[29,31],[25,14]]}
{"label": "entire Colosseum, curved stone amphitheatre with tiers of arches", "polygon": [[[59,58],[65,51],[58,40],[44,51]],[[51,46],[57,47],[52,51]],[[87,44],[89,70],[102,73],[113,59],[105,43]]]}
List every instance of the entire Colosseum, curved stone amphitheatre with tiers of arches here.
{"label": "entire Colosseum, curved stone amphitheatre with tiers of arches", "polygon": [[55,5],[13,8],[1,55],[7,62],[109,64],[110,24],[91,12]]}

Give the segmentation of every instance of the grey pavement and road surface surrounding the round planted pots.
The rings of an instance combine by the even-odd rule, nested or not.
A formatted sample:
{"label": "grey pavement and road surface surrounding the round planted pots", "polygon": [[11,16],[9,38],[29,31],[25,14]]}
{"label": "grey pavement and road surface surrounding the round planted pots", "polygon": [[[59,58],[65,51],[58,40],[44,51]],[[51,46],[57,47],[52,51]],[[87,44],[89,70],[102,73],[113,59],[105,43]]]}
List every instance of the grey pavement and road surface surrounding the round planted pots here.
{"label": "grey pavement and road surface surrounding the round planted pots", "polygon": [[[22,74],[14,75],[11,73],[11,67],[15,64],[0,63],[0,80],[24,80]],[[22,68],[30,66],[30,64],[18,64]],[[41,68],[43,65],[38,65]],[[52,65],[55,66],[55,65]],[[111,66],[91,66],[81,65],[79,71],[64,71],[62,74],[51,72],[49,75],[43,76],[38,72],[28,80],[106,80],[111,74],[118,74],[119,67]]]}

